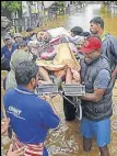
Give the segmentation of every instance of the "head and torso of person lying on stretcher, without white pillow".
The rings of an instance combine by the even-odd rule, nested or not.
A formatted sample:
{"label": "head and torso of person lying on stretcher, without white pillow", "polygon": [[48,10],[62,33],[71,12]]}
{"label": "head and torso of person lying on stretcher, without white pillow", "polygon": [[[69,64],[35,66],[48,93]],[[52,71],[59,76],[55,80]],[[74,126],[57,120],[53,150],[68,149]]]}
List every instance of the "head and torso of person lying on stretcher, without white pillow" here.
{"label": "head and torso of person lying on stretcher, without white pillow", "polygon": [[56,55],[56,44],[58,44],[59,41],[59,37],[51,40],[49,33],[42,31],[37,33],[37,40],[30,41],[27,45],[31,52],[36,55],[38,59],[52,59]]}

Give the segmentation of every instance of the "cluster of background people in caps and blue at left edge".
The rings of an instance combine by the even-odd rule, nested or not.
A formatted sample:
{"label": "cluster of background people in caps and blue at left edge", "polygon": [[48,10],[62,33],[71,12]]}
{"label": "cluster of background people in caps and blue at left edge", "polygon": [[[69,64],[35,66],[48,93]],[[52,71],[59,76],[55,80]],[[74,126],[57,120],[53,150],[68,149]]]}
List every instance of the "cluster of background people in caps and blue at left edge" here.
{"label": "cluster of background people in caps and blue at left edge", "polygon": [[13,36],[10,33],[4,35],[4,45],[1,48],[1,70],[10,71],[11,55],[15,52],[15,49],[26,47],[27,43],[32,41],[32,37],[35,34],[33,29],[30,27],[26,32],[28,33],[26,37],[23,37],[20,33],[14,33]]}

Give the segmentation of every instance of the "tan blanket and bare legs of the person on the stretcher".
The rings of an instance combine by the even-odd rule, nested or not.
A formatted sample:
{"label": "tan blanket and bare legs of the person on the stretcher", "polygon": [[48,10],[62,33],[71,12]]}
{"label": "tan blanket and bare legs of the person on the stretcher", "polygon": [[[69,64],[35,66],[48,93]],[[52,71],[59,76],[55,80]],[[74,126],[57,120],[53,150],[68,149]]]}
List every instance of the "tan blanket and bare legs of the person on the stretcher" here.
{"label": "tan blanket and bare legs of the person on the stretcher", "polygon": [[[40,83],[51,83],[49,74],[52,73],[56,79],[55,83],[80,83],[80,63],[68,43],[61,43],[57,46],[57,55],[54,60],[36,60],[39,66],[39,74],[44,81]],[[79,75],[79,76],[75,76]]]}

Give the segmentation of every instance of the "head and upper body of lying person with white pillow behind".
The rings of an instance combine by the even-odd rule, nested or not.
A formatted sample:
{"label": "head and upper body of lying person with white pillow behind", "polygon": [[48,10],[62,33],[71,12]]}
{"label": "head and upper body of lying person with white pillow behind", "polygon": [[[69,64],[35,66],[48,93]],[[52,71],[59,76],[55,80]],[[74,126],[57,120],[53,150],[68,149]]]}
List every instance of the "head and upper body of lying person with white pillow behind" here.
{"label": "head and upper body of lying person with white pillow behind", "polygon": [[[69,42],[73,52],[77,53],[75,43],[69,38],[70,34],[63,27],[39,31],[36,37],[36,41],[28,42],[28,47],[39,59],[52,59],[56,55],[56,46],[61,42]],[[83,36],[81,36],[81,40],[83,41]],[[79,42],[81,40],[79,38]]]}

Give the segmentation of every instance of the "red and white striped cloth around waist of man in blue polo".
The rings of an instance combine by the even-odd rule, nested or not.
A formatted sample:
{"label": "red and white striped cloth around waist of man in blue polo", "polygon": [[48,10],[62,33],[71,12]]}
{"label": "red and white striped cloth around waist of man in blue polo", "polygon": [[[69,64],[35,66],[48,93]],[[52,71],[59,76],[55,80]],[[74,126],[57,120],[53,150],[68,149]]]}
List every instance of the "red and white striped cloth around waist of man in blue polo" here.
{"label": "red and white striped cloth around waist of man in blue polo", "polygon": [[16,137],[13,138],[13,151],[16,151],[25,146],[25,152],[23,156],[42,156],[44,144],[23,144]]}

